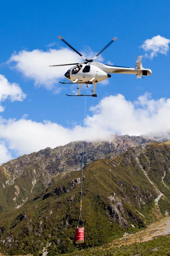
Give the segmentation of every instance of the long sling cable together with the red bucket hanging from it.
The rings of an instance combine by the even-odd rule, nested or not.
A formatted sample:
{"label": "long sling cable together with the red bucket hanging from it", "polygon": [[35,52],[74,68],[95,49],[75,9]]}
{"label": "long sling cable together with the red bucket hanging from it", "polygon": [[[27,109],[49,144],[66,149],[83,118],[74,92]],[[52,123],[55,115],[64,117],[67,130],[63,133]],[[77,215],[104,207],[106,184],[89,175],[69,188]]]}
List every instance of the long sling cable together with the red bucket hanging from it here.
{"label": "long sling cable together with the red bucket hanging from it", "polygon": [[[87,90],[87,84],[86,84],[86,88]],[[86,93],[85,93],[86,94]],[[86,96],[85,96],[85,116],[86,116]],[[84,131],[85,131],[85,116],[84,116]],[[83,144],[82,144],[82,178],[83,179],[83,167],[84,167],[84,149],[85,149],[85,139],[83,140]],[[79,214],[79,220],[78,220],[78,224],[77,224],[77,228],[76,228],[76,244],[82,244],[84,243],[84,224],[83,224],[83,220],[82,220],[82,182],[81,182],[81,194],[80,194],[80,214]],[[82,221],[82,226],[83,227],[79,227],[79,223],[80,221]]]}

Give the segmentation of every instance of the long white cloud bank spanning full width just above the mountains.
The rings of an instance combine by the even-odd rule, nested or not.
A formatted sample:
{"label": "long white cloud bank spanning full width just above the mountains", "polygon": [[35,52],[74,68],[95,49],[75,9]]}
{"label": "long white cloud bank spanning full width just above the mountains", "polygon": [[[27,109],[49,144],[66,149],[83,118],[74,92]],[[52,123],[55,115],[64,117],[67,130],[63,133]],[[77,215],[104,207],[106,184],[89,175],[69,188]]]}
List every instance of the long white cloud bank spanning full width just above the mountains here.
{"label": "long white cloud bank spanning full width just above the mountains", "polygon": [[91,116],[86,117],[85,130],[81,125],[65,128],[50,121],[1,118],[0,139],[21,155],[74,140],[109,140],[115,133],[140,135],[170,131],[170,99],[155,100],[149,93],[134,102],[127,101],[121,94],[105,97],[91,107],[91,112]]}

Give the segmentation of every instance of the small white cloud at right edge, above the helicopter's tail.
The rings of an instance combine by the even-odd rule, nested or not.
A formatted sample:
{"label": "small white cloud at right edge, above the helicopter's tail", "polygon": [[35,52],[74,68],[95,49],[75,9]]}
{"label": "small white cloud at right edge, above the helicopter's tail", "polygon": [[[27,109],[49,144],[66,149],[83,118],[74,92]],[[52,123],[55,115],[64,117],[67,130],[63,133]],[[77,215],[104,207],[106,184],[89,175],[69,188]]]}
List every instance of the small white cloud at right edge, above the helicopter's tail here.
{"label": "small white cloud at right edge, above the helicopter's tail", "polygon": [[163,36],[156,35],[151,39],[147,39],[142,44],[141,48],[144,49],[145,57],[153,58],[158,56],[158,53],[167,55],[169,51],[170,39],[164,38]]}

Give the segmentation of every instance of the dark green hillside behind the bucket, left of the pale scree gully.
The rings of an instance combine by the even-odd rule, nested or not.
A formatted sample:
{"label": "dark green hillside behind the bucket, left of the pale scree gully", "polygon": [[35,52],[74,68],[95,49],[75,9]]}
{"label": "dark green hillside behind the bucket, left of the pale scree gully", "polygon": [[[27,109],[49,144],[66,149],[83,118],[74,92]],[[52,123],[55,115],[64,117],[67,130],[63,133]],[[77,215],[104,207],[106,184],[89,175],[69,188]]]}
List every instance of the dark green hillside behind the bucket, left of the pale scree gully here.
{"label": "dark green hillside behind the bucket, left of the pale scree gully", "polygon": [[[156,192],[132,153],[86,166],[83,176],[82,217],[85,244],[97,246],[146,227]],[[130,162],[129,162],[130,160]],[[1,250],[38,255],[48,241],[49,255],[66,253],[74,243],[79,216],[81,172],[60,174],[48,189],[16,211],[1,213]],[[139,212],[144,215],[143,217]],[[134,227],[131,226],[134,225]]]}

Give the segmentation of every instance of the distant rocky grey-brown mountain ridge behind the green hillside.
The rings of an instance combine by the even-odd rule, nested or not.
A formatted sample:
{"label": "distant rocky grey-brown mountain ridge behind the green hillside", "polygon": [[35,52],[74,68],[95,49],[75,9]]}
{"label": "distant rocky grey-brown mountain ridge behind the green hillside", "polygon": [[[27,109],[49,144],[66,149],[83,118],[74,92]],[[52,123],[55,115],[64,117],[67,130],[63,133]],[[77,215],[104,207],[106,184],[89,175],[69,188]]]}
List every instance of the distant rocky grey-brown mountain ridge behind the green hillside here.
{"label": "distant rocky grey-brown mountain ridge behind the green hillside", "polygon": [[[141,136],[115,135],[111,142],[85,143],[84,162],[112,158],[130,147],[153,142]],[[82,142],[71,142],[57,148],[45,148],[23,155],[0,166],[0,212],[18,209],[47,188],[57,175],[81,169]]]}

